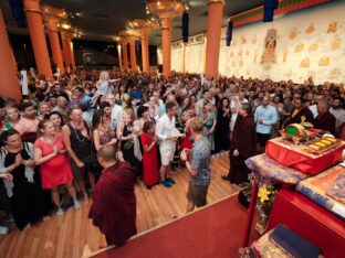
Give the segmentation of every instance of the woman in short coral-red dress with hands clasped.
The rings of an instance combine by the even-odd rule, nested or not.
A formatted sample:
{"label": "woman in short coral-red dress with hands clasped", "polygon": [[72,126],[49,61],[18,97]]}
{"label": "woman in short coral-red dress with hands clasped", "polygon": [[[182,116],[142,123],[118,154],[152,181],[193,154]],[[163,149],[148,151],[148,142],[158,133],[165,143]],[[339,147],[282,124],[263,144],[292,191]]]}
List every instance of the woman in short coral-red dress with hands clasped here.
{"label": "woman in short coral-red dress with hands clasped", "polygon": [[56,215],[62,215],[60,205],[59,185],[64,184],[74,201],[74,208],[80,208],[73,187],[73,173],[71,163],[65,155],[65,147],[61,133],[56,133],[53,122],[42,120],[39,123],[41,137],[36,139],[33,147],[33,158],[36,165],[41,164],[42,189],[52,190],[52,198],[58,207]]}

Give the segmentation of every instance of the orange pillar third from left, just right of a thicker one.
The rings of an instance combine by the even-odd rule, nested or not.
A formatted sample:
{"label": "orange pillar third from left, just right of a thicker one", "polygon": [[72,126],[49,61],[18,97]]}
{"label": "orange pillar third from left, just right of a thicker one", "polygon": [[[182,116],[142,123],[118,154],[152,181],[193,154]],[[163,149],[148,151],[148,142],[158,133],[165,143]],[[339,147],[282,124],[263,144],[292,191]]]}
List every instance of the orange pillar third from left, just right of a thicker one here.
{"label": "orange pillar third from left, just right of a thicker one", "polygon": [[61,46],[60,46],[60,41],[59,41],[58,22],[49,21],[45,23],[45,26],[48,29],[48,35],[49,35],[49,41],[51,44],[54,62],[60,69],[60,74],[64,74],[65,69],[63,66],[62,52],[61,52]]}

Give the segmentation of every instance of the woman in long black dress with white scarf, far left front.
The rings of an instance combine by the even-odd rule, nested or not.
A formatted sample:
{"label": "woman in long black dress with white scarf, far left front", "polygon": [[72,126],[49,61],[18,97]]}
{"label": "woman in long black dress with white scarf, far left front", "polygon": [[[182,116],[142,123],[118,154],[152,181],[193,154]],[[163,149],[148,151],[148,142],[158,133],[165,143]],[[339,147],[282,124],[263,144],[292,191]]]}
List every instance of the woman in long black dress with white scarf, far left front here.
{"label": "woman in long black dress with white scarf, far left front", "polygon": [[22,142],[18,131],[10,129],[1,133],[4,143],[0,148],[0,172],[11,173],[12,181],[4,181],[11,213],[19,229],[43,218],[52,208],[43,196],[40,178],[33,170],[33,146]]}

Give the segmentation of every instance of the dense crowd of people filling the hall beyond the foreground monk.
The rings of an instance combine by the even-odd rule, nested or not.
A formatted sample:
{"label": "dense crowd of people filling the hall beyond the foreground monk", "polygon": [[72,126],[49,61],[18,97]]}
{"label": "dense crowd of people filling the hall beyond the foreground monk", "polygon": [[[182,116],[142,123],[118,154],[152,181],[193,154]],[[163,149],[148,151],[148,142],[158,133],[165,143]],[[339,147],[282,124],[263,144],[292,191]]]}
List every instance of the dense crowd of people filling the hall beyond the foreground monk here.
{"label": "dense crowd of people filling the hall beyond the foreground monk", "polygon": [[28,89],[20,103],[0,103],[1,206],[20,229],[53,208],[62,215],[87,203],[109,168],[100,152],[126,161],[148,190],[174,187],[171,171],[186,166],[190,212],[206,204],[210,153],[229,151],[222,179],[243,185],[244,160],[302,117],[345,139],[344,85],[312,78],[296,84],[77,69],[53,79],[30,73]]}

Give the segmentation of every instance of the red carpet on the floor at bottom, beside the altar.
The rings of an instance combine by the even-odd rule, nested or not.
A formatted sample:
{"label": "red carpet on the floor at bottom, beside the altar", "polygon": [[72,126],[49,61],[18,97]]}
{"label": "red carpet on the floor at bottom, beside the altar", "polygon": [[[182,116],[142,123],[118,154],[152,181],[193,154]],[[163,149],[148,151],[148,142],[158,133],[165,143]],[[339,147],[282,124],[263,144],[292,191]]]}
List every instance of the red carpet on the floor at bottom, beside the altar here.
{"label": "red carpet on the floor at bottom, beside the altar", "polygon": [[238,257],[245,214],[234,195],[95,257]]}

